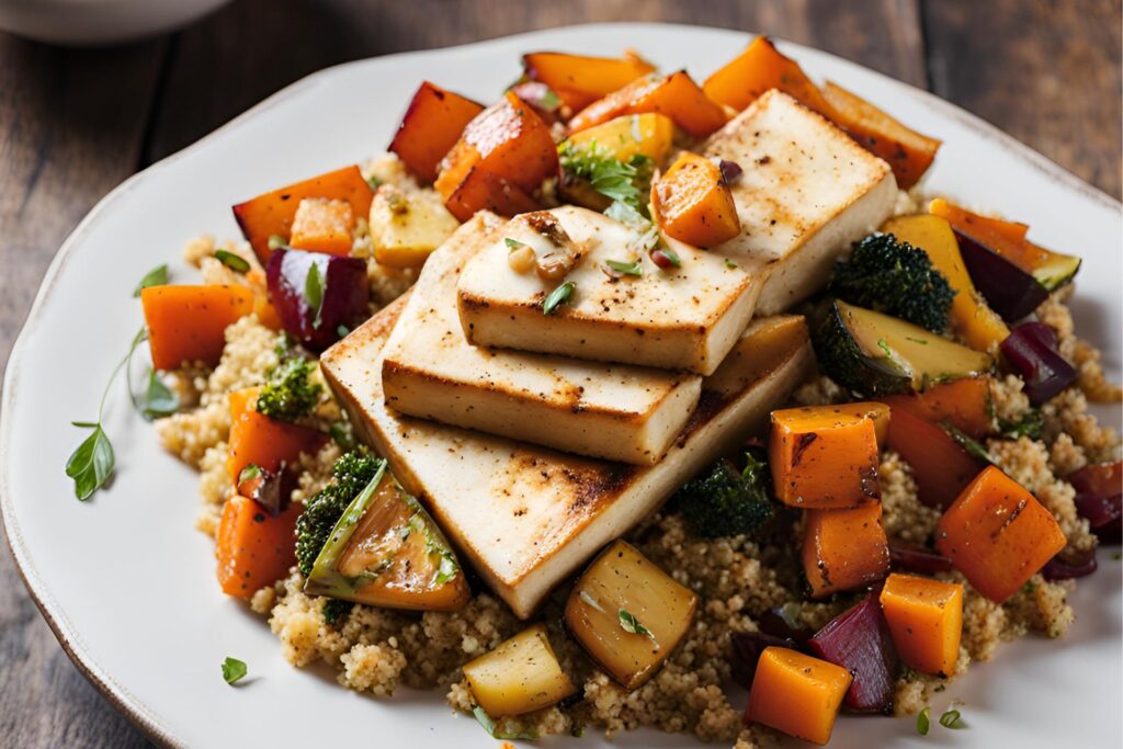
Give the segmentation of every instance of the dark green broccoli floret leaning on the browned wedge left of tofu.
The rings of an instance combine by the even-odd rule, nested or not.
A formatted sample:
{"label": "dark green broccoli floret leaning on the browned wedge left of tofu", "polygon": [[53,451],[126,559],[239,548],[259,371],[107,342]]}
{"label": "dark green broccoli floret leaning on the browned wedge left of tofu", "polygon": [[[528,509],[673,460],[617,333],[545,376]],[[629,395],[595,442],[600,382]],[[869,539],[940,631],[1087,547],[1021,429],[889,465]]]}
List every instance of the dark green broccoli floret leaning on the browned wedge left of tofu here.
{"label": "dark green broccoli floret leaning on the browned wedge left of tofu", "polygon": [[331,469],[332,482],[304,503],[296,519],[296,563],[305,577],[311,574],[316,557],[328,542],[344,510],[371,483],[382,466],[382,459],[363,450],[346,453]]}

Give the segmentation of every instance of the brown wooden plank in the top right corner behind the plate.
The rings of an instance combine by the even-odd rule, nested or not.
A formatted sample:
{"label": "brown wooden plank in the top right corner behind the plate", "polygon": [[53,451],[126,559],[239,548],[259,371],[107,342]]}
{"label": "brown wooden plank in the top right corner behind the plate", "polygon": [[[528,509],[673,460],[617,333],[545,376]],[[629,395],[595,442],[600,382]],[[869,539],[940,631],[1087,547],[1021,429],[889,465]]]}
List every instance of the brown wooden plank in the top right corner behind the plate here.
{"label": "brown wooden plank in the top right corner behind the plate", "polygon": [[1115,198],[1120,0],[928,0],[932,90]]}

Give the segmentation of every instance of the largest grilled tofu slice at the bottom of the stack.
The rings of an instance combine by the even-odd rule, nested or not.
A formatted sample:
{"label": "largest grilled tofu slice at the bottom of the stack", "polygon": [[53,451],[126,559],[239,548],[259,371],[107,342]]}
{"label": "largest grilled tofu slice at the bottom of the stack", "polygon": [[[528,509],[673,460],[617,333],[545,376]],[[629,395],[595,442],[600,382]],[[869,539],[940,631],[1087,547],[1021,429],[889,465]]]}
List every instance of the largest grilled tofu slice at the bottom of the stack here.
{"label": "largest grilled tofu slice at the bottom of the stack", "polygon": [[[411,300],[412,301],[412,300]],[[703,387],[658,464],[641,468],[556,453],[401,415],[386,408],[381,351],[407,302],[376,314],[320,358],[359,437],[519,616],[659,506],[738,440],[763,433],[813,366],[800,317],[754,320]]]}

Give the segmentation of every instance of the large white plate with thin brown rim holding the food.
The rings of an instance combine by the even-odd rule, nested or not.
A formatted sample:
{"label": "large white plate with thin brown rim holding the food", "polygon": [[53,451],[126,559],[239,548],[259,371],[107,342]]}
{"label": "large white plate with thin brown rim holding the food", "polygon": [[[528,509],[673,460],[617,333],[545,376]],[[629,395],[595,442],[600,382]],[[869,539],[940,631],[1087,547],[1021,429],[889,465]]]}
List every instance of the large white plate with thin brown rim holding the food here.
{"label": "large white plate with thin brown rim holding the food", "polygon": [[[292,85],[194,146],[134,176],[63,245],[12,351],[3,389],[0,488],[16,561],[79,667],[157,740],[190,746],[495,747],[437,694],[402,689],[369,700],[327,669],[296,670],[264,622],[214,584],[210,539],[193,530],[195,474],[166,455],[116,386],[106,423],[118,469],[109,491],[74,500],[63,465],[84,432],[117,359],[141,323],[130,294],[201,231],[236,236],[229,207],[279,184],[354,163],[390,140],[423,79],[491,100],[537,48],[605,54],[636,47],[664,68],[704,77],[745,34],[657,25],[584,26],[335,67]],[[787,53],[943,139],[929,186],[1032,222],[1046,246],[1085,258],[1074,304],[1081,335],[1120,371],[1120,204],[994,128],[939,99],[831,55]],[[1110,95],[1110,92],[1104,92]],[[1108,413],[1119,420],[1117,410]],[[1059,642],[1023,640],[973,667],[934,706],[966,702],[969,731],[921,740],[911,720],[843,719],[832,746],[1120,746],[1120,563],[1079,586],[1079,620]],[[231,689],[226,656],[249,664]],[[1079,739],[1075,739],[1079,737]],[[556,743],[560,743],[558,741]],[[566,746],[601,745],[586,736]],[[654,732],[617,747],[693,746]]]}

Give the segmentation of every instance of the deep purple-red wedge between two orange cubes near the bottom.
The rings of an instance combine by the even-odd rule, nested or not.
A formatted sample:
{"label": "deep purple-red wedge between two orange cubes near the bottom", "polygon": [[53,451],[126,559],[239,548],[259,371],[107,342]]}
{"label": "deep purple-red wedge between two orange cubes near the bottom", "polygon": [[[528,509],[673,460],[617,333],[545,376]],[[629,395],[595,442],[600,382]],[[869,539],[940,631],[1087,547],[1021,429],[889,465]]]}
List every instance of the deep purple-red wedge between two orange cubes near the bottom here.
{"label": "deep purple-red wedge between two orange cubes near the bottom", "polygon": [[844,704],[858,713],[889,713],[901,658],[877,595],[832,619],[809,640],[811,651],[850,672]]}

